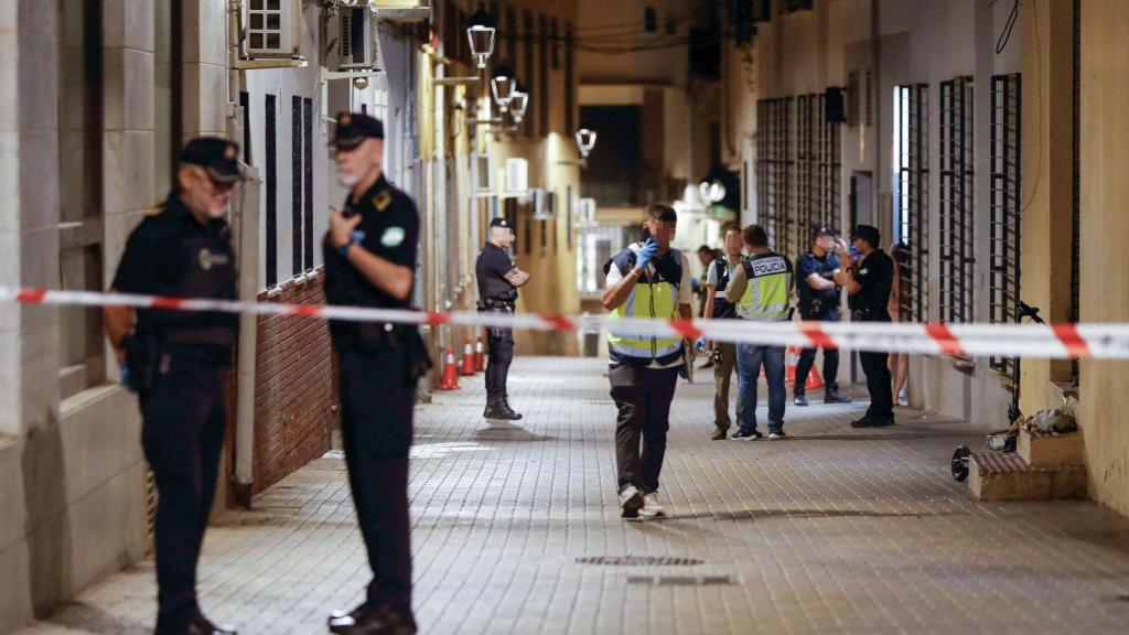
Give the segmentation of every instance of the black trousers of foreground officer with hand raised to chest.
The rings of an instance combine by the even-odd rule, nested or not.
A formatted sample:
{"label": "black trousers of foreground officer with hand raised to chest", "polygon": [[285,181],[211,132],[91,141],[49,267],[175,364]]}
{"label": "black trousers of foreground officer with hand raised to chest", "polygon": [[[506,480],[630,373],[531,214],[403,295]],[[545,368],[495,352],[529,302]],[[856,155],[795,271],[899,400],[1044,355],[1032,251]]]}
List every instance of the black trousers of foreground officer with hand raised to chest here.
{"label": "black trousers of foreground officer with hand raised to chest", "polygon": [[338,353],[349,486],[373,569],[367,602],[411,608],[408,453],[415,385],[404,381],[405,348],[367,353],[342,346]]}

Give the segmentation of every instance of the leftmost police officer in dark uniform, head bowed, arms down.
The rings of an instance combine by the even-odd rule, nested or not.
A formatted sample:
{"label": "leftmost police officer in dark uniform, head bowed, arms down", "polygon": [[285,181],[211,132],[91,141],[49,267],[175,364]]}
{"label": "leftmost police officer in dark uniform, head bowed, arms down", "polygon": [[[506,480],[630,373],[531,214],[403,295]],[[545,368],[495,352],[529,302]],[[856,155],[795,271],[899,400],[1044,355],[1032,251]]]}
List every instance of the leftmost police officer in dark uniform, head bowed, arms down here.
{"label": "leftmost police officer in dark uniform, head bowed, arms down", "polygon": [[[111,292],[235,299],[236,268],[224,216],[242,179],[239,147],[199,138],[180,155],[165,206],[130,234]],[[225,371],[238,316],[105,308],[122,382],[139,393],[141,444],[157,481],[156,633],[235,633],[212,624],[196,601],[203,542],[227,425]]]}

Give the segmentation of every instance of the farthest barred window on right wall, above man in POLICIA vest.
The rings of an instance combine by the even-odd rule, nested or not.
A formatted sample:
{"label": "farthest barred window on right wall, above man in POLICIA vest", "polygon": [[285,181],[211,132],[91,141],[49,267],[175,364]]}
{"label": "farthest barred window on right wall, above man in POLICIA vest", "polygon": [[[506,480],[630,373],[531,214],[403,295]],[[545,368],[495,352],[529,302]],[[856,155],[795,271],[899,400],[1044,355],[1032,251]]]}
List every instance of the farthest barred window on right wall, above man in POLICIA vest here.
{"label": "farthest barred window on right wall, above man in POLICIA vest", "polygon": [[756,217],[769,235],[769,244],[778,251],[795,244],[793,235],[797,229],[791,195],[795,167],[791,110],[791,97],[756,103]]}

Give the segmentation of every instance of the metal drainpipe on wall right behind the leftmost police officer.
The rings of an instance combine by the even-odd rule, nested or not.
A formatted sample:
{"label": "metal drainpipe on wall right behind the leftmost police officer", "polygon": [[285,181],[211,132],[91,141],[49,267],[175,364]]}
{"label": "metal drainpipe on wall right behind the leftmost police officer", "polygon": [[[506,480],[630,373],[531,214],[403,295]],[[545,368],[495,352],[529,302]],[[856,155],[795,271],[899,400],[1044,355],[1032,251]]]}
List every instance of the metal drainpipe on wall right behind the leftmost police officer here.
{"label": "metal drainpipe on wall right behind the leftmost police officer", "polygon": [[[228,138],[243,142],[243,107],[237,96],[243,89],[244,71],[237,70],[239,58],[239,15],[242,0],[228,2]],[[243,149],[246,156],[247,148]],[[259,194],[262,181],[259,171],[247,168],[243,198],[234,209],[234,224],[238,241],[239,299],[255,301],[259,296]],[[251,508],[254,484],[255,449],[255,354],[257,320],[253,314],[239,315],[237,348],[236,415],[235,415],[235,502]]]}

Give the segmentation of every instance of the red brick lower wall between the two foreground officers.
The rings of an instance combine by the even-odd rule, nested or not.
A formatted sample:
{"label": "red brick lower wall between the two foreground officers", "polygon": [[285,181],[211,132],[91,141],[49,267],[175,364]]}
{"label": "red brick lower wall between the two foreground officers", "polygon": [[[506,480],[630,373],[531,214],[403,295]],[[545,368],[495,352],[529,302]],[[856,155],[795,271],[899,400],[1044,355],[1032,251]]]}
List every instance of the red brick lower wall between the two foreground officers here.
{"label": "red brick lower wall between the two foreground officers", "polygon": [[[322,270],[260,302],[321,304]],[[330,449],[336,367],[324,321],[260,318],[255,368],[255,493]]]}

